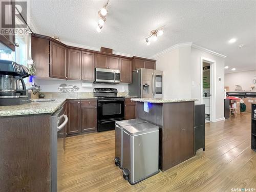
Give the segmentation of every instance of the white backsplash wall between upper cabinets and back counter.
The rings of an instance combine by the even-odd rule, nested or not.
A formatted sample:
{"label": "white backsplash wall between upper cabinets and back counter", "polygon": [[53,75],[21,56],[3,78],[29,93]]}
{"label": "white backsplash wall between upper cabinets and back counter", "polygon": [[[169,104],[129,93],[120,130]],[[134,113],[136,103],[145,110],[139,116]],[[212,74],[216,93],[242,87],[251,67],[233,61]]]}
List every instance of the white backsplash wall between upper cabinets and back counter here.
{"label": "white backsplash wall between upper cabinets and back counter", "polygon": [[34,79],[36,85],[40,86],[41,92],[59,92],[58,87],[61,83],[72,84],[78,86],[78,92],[93,92],[93,88],[116,88],[118,92],[124,92],[128,89],[128,84],[94,84],[92,82],[85,82],[91,88],[82,88],[81,81],[61,80],[61,79]]}

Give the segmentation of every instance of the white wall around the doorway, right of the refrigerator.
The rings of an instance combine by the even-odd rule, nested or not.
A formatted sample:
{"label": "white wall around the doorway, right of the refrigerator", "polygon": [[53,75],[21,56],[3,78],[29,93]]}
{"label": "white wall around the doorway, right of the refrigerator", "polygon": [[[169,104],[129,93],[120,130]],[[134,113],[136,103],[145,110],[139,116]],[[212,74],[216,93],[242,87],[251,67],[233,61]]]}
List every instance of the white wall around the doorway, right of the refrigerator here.
{"label": "white wall around the doorway, right of the refrigerator", "polygon": [[[224,65],[225,59],[215,54],[186,46],[158,54],[156,69],[164,72],[163,92],[168,98],[201,99],[201,58],[216,61],[216,114],[214,120],[224,118]],[[219,81],[218,78],[221,78]]]}

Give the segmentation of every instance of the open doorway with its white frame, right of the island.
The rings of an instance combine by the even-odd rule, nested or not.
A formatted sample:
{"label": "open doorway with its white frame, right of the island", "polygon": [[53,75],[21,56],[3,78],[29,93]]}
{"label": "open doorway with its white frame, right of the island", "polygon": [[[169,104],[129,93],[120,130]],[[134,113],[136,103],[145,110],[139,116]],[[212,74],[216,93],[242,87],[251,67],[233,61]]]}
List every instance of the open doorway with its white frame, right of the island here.
{"label": "open doorway with its white frame, right of the island", "polygon": [[205,123],[215,122],[215,68],[214,60],[201,58],[201,103],[205,104]]}

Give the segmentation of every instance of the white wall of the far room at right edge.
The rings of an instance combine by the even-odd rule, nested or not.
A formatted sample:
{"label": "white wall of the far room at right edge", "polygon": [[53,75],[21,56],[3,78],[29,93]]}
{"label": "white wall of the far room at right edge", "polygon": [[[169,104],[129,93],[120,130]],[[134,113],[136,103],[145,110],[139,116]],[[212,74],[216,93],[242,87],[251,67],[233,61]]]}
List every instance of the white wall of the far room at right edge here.
{"label": "white wall of the far room at right edge", "polygon": [[[229,87],[229,91],[234,91],[235,85],[240,84],[244,91],[251,91],[251,86],[256,87],[256,84],[253,84],[253,79],[256,79],[256,70],[226,73],[225,87]],[[256,88],[254,90],[256,91]]]}

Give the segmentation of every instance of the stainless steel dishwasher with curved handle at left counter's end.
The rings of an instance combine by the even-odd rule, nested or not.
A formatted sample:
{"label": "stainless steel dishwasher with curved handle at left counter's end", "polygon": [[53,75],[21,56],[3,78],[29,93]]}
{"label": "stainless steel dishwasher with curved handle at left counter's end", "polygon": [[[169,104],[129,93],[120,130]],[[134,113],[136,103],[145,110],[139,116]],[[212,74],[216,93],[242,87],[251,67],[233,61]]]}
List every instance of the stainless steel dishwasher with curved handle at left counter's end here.
{"label": "stainless steel dishwasher with curved handle at left counter's end", "polygon": [[68,117],[65,115],[64,106],[51,116],[51,191],[58,191],[60,184],[60,169],[65,148],[65,125],[68,123]]}

